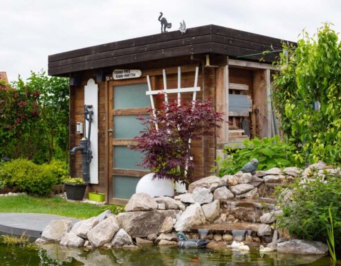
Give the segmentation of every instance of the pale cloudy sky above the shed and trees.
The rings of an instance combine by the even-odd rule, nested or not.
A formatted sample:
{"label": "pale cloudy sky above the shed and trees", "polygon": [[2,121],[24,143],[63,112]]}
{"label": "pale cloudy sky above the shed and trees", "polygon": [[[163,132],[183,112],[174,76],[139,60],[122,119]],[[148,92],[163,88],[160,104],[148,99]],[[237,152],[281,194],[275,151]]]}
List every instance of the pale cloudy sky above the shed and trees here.
{"label": "pale cloudy sky above the shed and trees", "polygon": [[48,55],[160,32],[216,24],[296,41],[322,22],[341,32],[338,0],[0,0],[0,71],[10,80],[47,69]]}

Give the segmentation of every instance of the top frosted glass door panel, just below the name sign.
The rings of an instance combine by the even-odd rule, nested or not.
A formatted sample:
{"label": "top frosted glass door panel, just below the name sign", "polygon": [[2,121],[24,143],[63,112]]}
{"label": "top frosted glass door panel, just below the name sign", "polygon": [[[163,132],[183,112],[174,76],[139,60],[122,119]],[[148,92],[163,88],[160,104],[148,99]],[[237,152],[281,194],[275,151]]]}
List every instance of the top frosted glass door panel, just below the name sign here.
{"label": "top frosted glass door panel, just below the name sign", "polygon": [[142,108],[149,107],[149,96],[146,95],[147,84],[123,85],[113,88],[113,108]]}

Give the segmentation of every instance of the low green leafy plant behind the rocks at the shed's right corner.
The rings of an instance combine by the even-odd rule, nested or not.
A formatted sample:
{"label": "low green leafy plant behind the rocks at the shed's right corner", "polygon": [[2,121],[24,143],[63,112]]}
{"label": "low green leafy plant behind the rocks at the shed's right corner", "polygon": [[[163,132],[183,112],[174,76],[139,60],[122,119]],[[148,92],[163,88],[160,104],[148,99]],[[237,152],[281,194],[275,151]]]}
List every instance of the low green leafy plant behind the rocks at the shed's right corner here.
{"label": "low green leafy plant behind the rocks at the shed's right corner", "polygon": [[302,163],[302,158],[295,152],[295,145],[280,141],[279,136],[270,139],[246,139],[243,145],[245,147],[243,149],[226,147],[223,152],[228,154],[228,159],[220,157],[216,159],[220,177],[233,175],[253,158],[259,161],[257,170],[299,166]]}

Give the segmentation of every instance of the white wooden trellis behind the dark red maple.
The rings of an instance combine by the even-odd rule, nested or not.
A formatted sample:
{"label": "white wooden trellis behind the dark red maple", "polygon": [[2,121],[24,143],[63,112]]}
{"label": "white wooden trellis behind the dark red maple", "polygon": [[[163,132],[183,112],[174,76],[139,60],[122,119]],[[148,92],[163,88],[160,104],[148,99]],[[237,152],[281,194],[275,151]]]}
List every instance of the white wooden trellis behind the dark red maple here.
{"label": "white wooden trellis behind the dark red maple", "polygon": [[[199,67],[196,67],[195,69],[195,76],[194,76],[194,87],[187,87],[187,88],[181,88],[181,67],[178,67],[178,87],[176,89],[167,89],[167,78],[166,78],[166,70],[163,69],[163,89],[153,91],[151,89],[151,83],[150,78],[147,76],[147,83],[148,83],[148,91],[146,92],[146,95],[149,95],[150,103],[151,103],[151,110],[153,112],[153,116],[155,119],[155,129],[158,131],[158,123],[156,121],[156,109],[154,104],[154,98],[153,95],[159,95],[163,94],[165,96],[165,103],[166,108],[168,104],[168,94],[178,94],[178,106],[181,105],[181,93],[184,92],[193,92],[193,98],[192,98],[192,109],[195,108],[195,100],[196,100],[196,91],[200,91],[200,87],[198,87],[198,76],[199,76]],[[188,141],[188,149],[191,147],[191,139]],[[191,158],[192,160],[192,158]],[[185,172],[187,173],[188,170],[188,161],[185,165]]]}

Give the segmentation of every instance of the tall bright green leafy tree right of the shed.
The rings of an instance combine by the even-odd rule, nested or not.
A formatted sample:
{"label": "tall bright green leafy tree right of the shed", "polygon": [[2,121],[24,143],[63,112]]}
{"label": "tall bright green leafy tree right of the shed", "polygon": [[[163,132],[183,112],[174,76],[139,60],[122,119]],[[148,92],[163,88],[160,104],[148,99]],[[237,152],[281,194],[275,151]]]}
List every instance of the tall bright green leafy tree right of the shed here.
{"label": "tall bright green leafy tree right of the shed", "polygon": [[[273,100],[282,129],[307,162],[341,163],[341,44],[324,24],[297,48],[284,46],[274,76]],[[313,103],[320,102],[320,111]]]}

